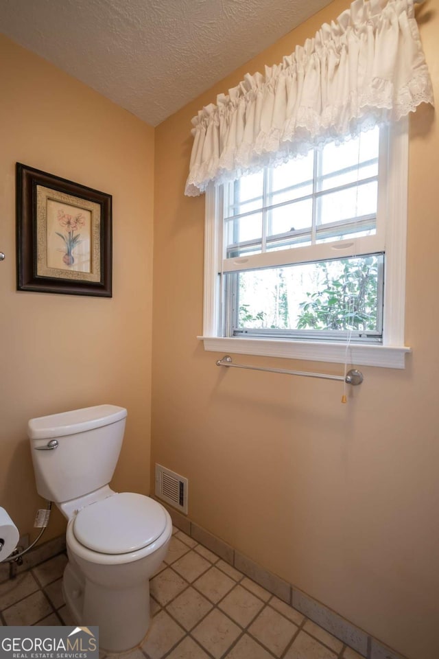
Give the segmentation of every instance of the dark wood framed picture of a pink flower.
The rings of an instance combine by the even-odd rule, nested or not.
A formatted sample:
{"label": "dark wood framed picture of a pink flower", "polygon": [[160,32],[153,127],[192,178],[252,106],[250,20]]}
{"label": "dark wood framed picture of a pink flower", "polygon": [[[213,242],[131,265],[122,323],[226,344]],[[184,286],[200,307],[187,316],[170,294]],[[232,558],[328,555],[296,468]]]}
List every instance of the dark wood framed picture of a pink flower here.
{"label": "dark wood framed picture of a pink flower", "polygon": [[17,290],[111,297],[112,197],[16,163]]}

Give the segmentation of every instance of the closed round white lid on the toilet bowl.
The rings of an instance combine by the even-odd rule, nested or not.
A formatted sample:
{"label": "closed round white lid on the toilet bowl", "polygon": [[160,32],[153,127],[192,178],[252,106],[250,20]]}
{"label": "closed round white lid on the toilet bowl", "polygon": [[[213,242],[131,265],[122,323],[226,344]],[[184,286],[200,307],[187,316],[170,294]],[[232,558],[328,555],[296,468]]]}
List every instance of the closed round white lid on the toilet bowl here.
{"label": "closed round white lid on the toilet bowl", "polygon": [[103,554],[126,554],[151,544],[165,531],[163,507],[142,494],[113,494],[82,508],[73,523],[76,540]]}

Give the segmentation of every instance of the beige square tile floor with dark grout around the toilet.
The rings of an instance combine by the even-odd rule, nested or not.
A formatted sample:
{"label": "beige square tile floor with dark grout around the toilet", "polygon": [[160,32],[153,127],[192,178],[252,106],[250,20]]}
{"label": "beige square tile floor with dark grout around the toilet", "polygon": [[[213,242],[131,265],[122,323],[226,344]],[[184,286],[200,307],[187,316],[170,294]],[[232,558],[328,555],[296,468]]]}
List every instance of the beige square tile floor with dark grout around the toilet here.
{"label": "beige square tile floor with dark grout around the toilet", "polygon": [[[73,625],[61,592],[66,562],[60,554],[0,583],[0,625]],[[150,590],[143,643],[101,659],[362,659],[178,529]]]}

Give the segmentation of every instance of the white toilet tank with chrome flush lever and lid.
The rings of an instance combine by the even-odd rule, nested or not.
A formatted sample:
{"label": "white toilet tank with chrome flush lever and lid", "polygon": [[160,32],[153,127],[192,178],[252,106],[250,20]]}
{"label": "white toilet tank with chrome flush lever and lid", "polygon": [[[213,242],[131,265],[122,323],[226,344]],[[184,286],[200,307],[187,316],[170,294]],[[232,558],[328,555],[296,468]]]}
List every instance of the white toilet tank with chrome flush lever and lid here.
{"label": "white toilet tank with chrome flush lever and lid", "polygon": [[[122,446],[127,411],[98,405],[27,424],[36,489],[45,499],[62,503],[108,485]],[[58,446],[45,450],[56,439]]]}

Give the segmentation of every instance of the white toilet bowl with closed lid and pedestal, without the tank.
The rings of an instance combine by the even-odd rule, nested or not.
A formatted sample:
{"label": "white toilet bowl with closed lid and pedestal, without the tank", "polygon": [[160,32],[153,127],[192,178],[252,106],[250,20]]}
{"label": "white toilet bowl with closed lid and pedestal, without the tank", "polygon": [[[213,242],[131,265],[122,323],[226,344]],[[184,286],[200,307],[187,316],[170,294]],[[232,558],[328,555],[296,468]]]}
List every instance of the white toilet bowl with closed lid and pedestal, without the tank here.
{"label": "white toilet bowl with closed lid and pedestal, without the tank", "polygon": [[172,522],[147,496],[108,487],[95,495],[67,524],[62,591],[76,622],[99,627],[100,647],[123,651],[147,632],[149,582],[165,558]]}

